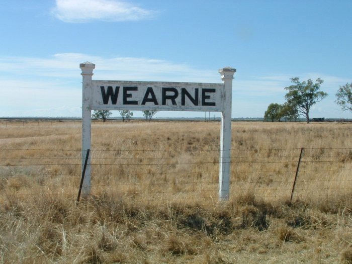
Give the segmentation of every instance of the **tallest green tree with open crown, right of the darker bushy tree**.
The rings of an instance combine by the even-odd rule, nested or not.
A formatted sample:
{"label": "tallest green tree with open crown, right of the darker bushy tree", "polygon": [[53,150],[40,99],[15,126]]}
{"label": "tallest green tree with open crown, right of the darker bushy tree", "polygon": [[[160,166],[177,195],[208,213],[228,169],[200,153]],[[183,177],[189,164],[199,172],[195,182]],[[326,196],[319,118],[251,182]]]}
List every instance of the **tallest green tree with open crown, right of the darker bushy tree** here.
{"label": "tallest green tree with open crown, right of the darker bushy tree", "polygon": [[327,94],[319,91],[323,80],[318,78],[313,83],[311,79],[300,82],[298,77],[291,78],[294,85],[285,87],[289,91],[286,95],[286,101],[289,105],[295,106],[299,115],[303,115],[309,124],[309,111],[313,105],[320,102]]}

